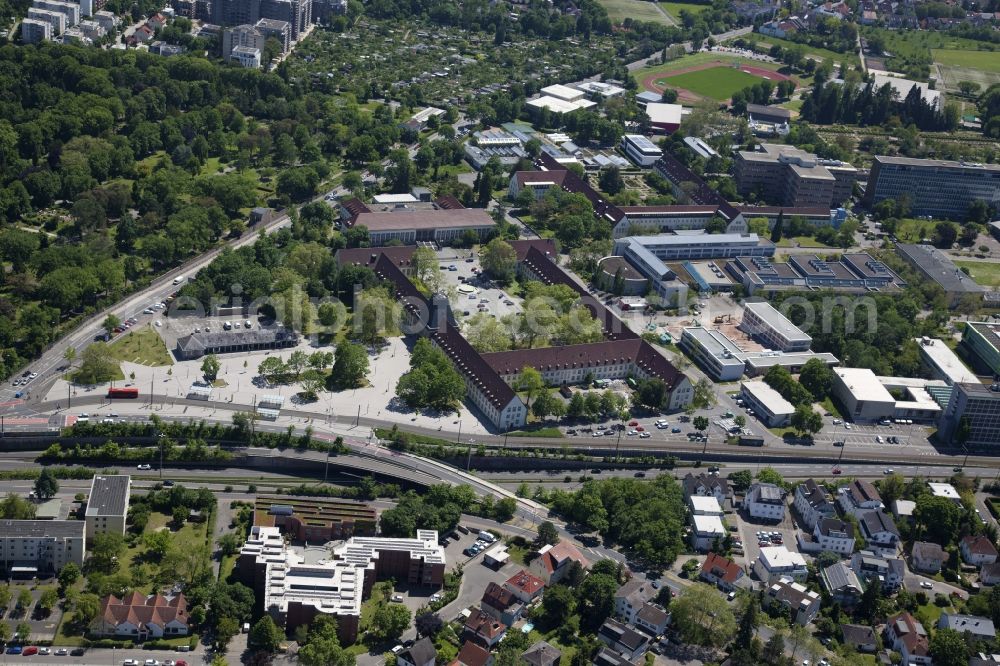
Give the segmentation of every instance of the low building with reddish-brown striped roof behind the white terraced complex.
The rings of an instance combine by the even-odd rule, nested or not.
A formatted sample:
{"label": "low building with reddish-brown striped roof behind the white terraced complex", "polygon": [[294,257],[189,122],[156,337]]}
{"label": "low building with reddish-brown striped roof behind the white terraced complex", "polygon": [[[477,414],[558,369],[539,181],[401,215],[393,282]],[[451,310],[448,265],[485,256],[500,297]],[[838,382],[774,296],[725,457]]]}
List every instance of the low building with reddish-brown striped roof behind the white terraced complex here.
{"label": "low building with reddish-brown striped roof behind the white terraced complex", "polygon": [[378,512],[349,500],[265,495],[254,501],[254,525],[278,527],[296,541],[326,543],[375,536]]}

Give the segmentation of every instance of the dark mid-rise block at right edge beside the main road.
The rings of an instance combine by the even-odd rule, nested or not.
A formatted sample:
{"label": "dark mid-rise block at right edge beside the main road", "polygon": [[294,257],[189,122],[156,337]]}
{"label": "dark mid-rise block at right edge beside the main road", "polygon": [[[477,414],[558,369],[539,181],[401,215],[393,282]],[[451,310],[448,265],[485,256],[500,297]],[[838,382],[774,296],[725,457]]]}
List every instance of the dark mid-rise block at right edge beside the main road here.
{"label": "dark mid-rise block at right edge beside the main road", "polygon": [[1000,384],[955,384],[938,436],[952,444],[1000,447]]}

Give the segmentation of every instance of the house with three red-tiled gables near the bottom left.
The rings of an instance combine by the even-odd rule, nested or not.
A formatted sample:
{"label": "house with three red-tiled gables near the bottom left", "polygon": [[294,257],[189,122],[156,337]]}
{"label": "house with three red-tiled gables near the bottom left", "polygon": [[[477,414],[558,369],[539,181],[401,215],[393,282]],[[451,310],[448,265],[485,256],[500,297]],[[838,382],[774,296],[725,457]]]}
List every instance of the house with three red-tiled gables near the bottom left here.
{"label": "house with three red-tiled gables near the bottom left", "polygon": [[108,595],[101,600],[101,612],[90,626],[97,636],[151,638],[187,636],[189,629],[187,600],[183,594],[165,597],[133,592],[119,599]]}

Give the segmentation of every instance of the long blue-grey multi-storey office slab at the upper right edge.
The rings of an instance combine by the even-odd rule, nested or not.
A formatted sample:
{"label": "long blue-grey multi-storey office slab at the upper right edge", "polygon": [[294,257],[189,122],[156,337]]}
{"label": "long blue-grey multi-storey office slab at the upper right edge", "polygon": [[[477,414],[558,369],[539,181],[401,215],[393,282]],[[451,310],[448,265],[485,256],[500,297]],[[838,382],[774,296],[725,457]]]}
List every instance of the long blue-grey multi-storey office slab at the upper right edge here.
{"label": "long blue-grey multi-storey office slab at the upper right edge", "polygon": [[876,155],[865,205],[904,197],[912,215],[964,220],[973,201],[1000,204],[1000,164]]}

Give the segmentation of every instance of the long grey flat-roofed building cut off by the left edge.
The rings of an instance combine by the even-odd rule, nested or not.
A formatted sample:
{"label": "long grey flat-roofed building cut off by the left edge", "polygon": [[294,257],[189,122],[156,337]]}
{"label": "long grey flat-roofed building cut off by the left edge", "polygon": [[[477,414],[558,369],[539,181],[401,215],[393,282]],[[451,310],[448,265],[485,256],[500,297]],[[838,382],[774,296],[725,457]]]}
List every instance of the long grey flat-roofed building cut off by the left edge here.
{"label": "long grey flat-roofed building cut off by the left edge", "polygon": [[82,520],[0,520],[0,565],[8,577],[82,567],[86,527]]}

